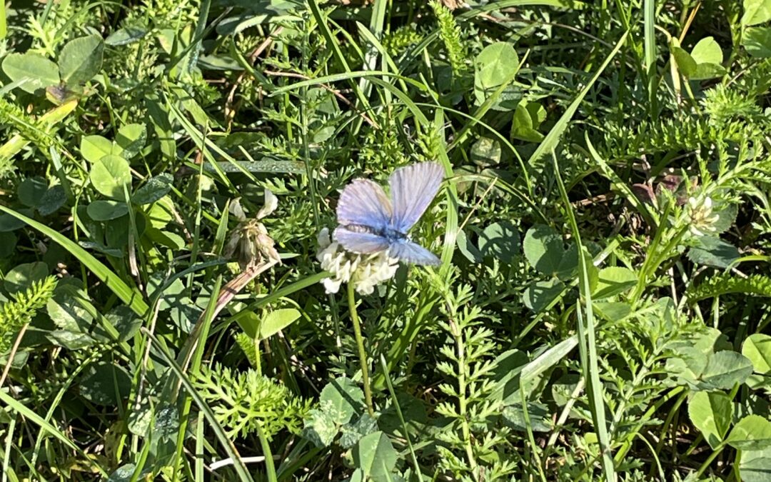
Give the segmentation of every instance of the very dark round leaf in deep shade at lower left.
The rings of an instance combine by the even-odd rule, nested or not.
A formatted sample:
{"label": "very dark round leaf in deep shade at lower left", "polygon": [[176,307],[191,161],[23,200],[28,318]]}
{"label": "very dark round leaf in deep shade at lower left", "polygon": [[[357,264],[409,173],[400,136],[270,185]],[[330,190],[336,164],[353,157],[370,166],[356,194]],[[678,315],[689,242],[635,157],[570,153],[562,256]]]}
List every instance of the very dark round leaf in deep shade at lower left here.
{"label": "very dark round leaf in deep shade at lower left", "polygon": [[95,363],[83,371],[78,391],[95,405],[118,406],[131,393],[131,376],[115,363]]}

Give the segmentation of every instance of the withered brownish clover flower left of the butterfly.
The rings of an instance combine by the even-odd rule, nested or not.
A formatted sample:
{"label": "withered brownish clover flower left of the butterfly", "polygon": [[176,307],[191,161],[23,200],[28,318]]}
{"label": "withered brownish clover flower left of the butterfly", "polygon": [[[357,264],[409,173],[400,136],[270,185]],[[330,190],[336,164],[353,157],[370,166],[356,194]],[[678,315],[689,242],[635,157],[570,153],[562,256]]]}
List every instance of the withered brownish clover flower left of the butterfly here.
{"label": "withered brownish clover flower left of the butterfly", "polygon": [[225,255],[230,258],[236,254],[238,264],[241,269],[254,268],[260,265],[267,258],[269,261],[281,262],[278,251],[274,248],[273,238],[268,234],[268,230],[260,220],[278,207],[278,197],[270,190],[265,190],[265,204],[258,211],[253,219],[247,219],[244,209],[241,207],[241,200],[237,199],[231,203],[230,212],[233,217],[241,224],[231,234],[227,241]]}

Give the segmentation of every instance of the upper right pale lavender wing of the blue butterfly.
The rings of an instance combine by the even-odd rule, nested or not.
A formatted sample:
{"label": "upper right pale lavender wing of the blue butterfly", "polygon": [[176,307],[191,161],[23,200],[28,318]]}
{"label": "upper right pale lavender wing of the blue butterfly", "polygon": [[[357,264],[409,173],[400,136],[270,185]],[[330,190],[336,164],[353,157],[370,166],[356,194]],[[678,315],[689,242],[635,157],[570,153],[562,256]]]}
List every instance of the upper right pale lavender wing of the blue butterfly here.
{"label": "upper right pale lavender wing of the blue butterfly", "polygon": [[389,178],[392,228],[406,234],[426,212],[443,179],[444,168],[435,162],[412,164],[395,170]]}

